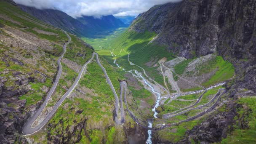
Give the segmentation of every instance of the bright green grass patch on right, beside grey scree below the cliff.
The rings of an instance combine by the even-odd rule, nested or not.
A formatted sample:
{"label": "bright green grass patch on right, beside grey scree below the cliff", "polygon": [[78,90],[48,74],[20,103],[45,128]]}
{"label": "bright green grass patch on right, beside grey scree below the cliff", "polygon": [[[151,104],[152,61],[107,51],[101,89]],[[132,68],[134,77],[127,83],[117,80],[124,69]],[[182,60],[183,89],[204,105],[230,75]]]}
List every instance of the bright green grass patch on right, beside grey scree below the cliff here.
{"label": "bright green grass patch on right, beside grey scree below the cliff", "polygon": [[218,70],[216,73],[208,80],[207,82],[203,83],[204,86],[208,87],[214,85],[219,82],[223,82],[225,80],[229,80],[235,74],[234,66],[229,63],[228,61],[224,61],[221,56],[216,57],[216,67]]}

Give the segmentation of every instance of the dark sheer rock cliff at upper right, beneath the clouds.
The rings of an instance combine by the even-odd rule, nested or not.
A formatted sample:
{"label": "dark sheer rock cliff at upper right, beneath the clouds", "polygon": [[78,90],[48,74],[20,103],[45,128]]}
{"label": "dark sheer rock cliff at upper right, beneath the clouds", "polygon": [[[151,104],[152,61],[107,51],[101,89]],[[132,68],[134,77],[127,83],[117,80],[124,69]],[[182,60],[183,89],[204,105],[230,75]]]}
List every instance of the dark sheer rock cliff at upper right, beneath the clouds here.
{"label": "dark sheer rock cliff at upper right, beneath the clouds", "polygon": [[[157,43],[167,44],[185,58],[222,53],[226,45],[237,52],[246,47],[253,54],[255,45],[249,43],[255,38],[253,5],[255,8],[253,0],[183,0],[151,8],[138,16],[130,29],[160,34]],[[245,58],[243,53],[239,55]]]}

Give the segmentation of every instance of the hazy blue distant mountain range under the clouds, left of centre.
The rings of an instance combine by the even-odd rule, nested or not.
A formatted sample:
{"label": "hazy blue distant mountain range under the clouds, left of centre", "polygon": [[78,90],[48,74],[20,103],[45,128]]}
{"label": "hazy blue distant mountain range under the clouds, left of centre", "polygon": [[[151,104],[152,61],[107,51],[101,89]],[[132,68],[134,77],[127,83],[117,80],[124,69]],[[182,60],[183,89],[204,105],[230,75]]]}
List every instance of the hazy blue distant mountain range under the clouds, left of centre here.
{"label": "hazy blue distant mountain range under the clouds, left of centre", "polygon": [[93,37],[93,35],[102,31],[129,26],[129,24],[124,24],[123,21],[112,15],[102,16],[99,19],[93,16],[82,16],[75,19],[59,10],[40,10],[25,5],[19,5],[19,7],[47,24],[59,27],[78,36]]}

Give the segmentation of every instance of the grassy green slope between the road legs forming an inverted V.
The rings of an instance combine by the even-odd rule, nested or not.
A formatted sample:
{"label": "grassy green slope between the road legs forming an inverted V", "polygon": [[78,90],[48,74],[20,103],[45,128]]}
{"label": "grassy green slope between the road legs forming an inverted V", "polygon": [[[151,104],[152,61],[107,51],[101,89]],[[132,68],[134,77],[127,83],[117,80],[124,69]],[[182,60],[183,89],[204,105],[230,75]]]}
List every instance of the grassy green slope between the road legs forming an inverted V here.
{"label": "grassy green slope between the road legs forming an inverted V", "polygon": [[[100,59],[118,93],[118,79],[123,79],[123,76],[120,75],[119,72],[116,72],[114,67],[107,64],[106,60],[103,58]],[[97,93],[98,96],[91,96],[91,94],[86,93],[85,97],[91,100],[83,98],[66,99],[50,121],[51,125],[54,125],[54,127],[48,127],[47,131],[50,132],[50,136],[58,133],[63,134],[64,130],[70,129],[72,125],[77,123],[83,123],[86,118],[88,119],[86,120],[86,133],[88,133],[88,135],[85,135],[85,129],[83,129],[80,143],[88,143],[90,141],[93,144],[98,144],[100,141],[103,141],[103,139],[107,139],[109,143],[112,143],[120,132],[117,131],[114,126],[107,127],[107,125],[113,125],[114,123],[112,121],[112,110],[114,108],[115,98],[111,88],[106,83],[106,78],[104,77],[101,67],[99,67],[96,61],[88,64],[87,72],[80,80],[79,85],[95,90],[94,93]],[[82,113],[79,115],[75,114],[77,108],[74,109],[74,107],[80,109]],[[106,131],[89,128],[96,123],[101,123],[101,126],[104,127]],[[43,131],[40,135],[45,135],[47,131]],[[34,139],[40,141],[37,137],[36,135],[33,136]],[[43,142],[47,143],[47,141]]]}

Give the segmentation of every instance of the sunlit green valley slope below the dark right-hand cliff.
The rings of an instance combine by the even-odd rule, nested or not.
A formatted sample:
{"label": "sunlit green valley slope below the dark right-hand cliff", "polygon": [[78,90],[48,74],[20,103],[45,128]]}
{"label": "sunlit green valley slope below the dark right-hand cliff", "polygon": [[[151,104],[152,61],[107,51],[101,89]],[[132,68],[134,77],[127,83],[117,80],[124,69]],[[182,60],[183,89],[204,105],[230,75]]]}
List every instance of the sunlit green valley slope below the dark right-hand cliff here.
{"label": "sunlit green valley slope below the dark right-hand cliff", "polygon": [[[94,41],[91,44],[95,45],[94,43],[101,43],[103,49],[99,50],[99,48],[97,48],[98,53],[104,56],[108,61],[113,61],[110,53],[110,51],[112,51],[117,55],[115,59],[117,59],[117,63],[121,67],[128,70],[137,69],[141,71],[138,67],[131,66],[128,63],[128,54],[121,51],[121,49],[124,49],[130,53],[130,60],[132,62],[143,67],[150,77],[155,79],[158,83],[163,84],[163,78],[158,74],[159,72],[156,70],[157,67],[148,67],[145,65],[145,63],[151,60],[154,61],[155,64],[163,57],[172,59],[172,54],[166,51],[165,46],[155,45],[154,43],[149,44],[156,34],[152,32],[137,33],[127,30],[123,34],[118,35],[116,38],[112,37],[108,43],[101,43],[102,40],[96,40],[96,42]],[[86,39],[84,40],[86,41]],[[90,43],[90,41],[88,41],[88,43]]]}

